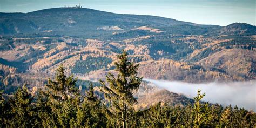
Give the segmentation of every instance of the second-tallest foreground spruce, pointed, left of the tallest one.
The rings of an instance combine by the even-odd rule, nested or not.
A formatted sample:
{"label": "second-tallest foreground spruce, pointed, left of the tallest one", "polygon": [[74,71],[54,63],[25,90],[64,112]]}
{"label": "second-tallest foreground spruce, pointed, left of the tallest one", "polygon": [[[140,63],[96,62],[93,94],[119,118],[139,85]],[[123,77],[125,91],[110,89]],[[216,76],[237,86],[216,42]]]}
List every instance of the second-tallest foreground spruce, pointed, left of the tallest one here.
{"label": "second-tallest foreground spruce, pointed, left of the tallest one", "polygon": [[[78,89],[75,86],[76,80],[73,75],[66,76],[63,65],[60,65],[57,69],[55,80],[49,78],[46,89],[43,92],[41,99],[46,105],[45,109],[50,108],[49,111],[44,111],[44,117],[48,120],[50,126],[70,126],[75,120],[77,107],[74,99],[78,95]],[[47,113],[48,112],[48,113]],[[50,119],[50,120],[49,120]]]}

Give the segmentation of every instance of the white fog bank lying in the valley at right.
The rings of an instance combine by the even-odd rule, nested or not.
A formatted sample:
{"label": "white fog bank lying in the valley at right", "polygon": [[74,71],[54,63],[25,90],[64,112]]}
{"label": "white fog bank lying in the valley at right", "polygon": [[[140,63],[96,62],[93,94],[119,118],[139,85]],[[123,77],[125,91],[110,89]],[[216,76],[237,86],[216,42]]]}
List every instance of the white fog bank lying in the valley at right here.
{"label": "white fog bank lying in the valley at right", "polygon": [[210,103],[219,103],[227,106],[237,105],[244,107],[247,110],[256,111],[256,80],[248,82],[229,82],[229,83],[204,83],[191,84],[184,82],[169,82],[165,80],[143,79],[147,82],[152,82],[158,87],[167,89],[171,92],[181,93],[189,98],[197,95],[197,90],[202,90],[205,93],[204,101]]}

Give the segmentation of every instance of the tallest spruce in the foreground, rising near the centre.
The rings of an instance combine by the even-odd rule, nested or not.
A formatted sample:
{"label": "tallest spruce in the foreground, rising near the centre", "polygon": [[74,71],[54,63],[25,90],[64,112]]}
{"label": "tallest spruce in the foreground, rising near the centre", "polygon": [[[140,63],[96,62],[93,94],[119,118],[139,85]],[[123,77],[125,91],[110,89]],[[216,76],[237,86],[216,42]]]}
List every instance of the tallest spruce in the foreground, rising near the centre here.
{"label": "tallest spruce in the foreground, rising near the centre", "polygon": [[102,80],[100,80],[100,83],[103,85],[104,97],[109,100],[109,115],[119,120],[116,125],[122,123],[123,128],[125,128],[126,122],[132,116],[132,106],[137,103],[132,93],[139,88],[142,77],[137,76],[139,65],[134,65],[124,50],[121,55],[117,56],[117,62],[114,65],[116,66],[117,76],[115,77],[112,73],[109,73],[106,75],[106,83]]}

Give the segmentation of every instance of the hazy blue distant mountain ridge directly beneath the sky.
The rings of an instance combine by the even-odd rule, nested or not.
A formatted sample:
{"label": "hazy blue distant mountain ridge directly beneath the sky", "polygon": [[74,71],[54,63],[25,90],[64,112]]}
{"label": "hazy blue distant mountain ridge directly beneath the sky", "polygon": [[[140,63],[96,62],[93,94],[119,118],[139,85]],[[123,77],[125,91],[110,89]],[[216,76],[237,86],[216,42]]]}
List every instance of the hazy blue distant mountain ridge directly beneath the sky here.
{"label": "hazy blue distant mountain ridge directly beneath the sky", "polygon": [[[239,28],[239,32],[244,33],[253,33],[256,30],[255,26],[244,23],[231,24],[225,27],[200,25],[164,17],[114,14],[87,8],[52,8],[25,14],[0,13],[0,34],[2,35],[45,33],[46,35],[95,37],[102,35],[102,33],[112,34],[113,31],[97,29],[105,26],[118,26],[122,31],[139,26],[152,26],[161,28],[166,33],[190,35],[226,34],[234,27]],[[247,32],[247,30],[250,31]]]}

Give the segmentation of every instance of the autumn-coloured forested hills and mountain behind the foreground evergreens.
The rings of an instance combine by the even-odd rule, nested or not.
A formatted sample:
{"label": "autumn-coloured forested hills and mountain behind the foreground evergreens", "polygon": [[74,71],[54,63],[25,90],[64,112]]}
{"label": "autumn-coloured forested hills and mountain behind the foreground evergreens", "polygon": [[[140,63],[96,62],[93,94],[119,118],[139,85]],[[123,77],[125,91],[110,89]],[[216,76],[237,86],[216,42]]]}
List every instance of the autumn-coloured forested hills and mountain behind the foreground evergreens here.
{"label": "autumn-coloured forested hills and mountain behind the foreground evergreens", "polygon": [[[78,77],[77,86],[86,89],[87,80],[99,86],[99,79],[114,73],[122,49],[140,64],[138,75],[148,79],[195,84],[255,80],[255,35],[256,27],[245,23],[200,25],[86,8],[0,13],[0,87],[12,94],[26,83],[36,91],[60,64],[67,75]],[[153,92],[155,97],[168,95],[172,105],[191,102],[166,90]],[[146,95],[138,97],[138,108],[151,105]]]}

